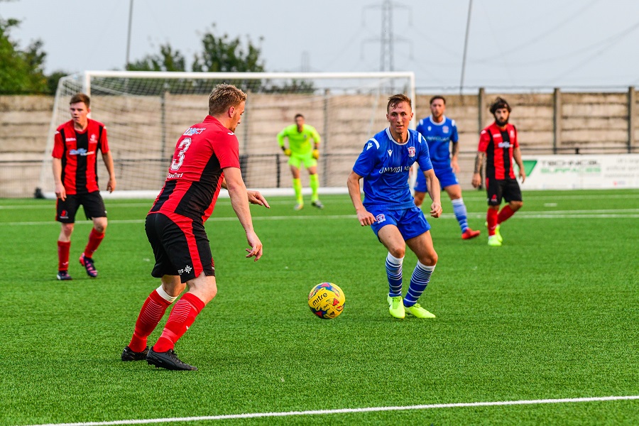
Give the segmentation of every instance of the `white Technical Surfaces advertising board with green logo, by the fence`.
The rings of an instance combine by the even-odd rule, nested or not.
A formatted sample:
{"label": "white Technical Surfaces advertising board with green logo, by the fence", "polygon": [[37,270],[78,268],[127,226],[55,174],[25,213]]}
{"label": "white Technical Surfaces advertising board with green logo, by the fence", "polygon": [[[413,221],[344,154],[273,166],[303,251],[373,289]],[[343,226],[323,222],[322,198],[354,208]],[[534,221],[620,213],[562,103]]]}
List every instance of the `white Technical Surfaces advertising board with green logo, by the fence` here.
{"label": "white Technical Surfaces advertising board with green logo, by the fence", "polygon": [[522,155],[522,190],[639,188],[639,154]]}

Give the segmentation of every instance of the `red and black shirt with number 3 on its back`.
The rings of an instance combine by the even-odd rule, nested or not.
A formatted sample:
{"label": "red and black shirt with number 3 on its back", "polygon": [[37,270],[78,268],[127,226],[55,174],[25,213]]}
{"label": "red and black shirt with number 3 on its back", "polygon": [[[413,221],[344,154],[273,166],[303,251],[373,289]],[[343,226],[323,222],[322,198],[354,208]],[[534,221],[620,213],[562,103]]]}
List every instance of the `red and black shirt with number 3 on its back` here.
{"label": "red and black shirt with number 3 on its back", "polygon": [[239,142],[219,120],[207,116],[178,139],[164,187],[149,214],[159,212],[171,219],[179,214],[206,221],[227,167],[239,168]]}

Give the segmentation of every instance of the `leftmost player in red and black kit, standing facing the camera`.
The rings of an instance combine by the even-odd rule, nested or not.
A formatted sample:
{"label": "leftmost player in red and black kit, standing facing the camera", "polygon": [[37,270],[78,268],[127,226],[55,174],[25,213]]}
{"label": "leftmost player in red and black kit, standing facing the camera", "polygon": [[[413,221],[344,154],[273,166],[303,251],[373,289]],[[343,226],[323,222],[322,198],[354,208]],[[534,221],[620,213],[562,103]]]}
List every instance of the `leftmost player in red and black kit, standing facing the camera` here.
{"label": "leftmost player in red and black kit, standing facing the camera", "polygon": [[62,224],[58,237],[58,280],[70,280],[69,250],[75,224],[75,213],[82,205],[87,219],[93,219],[89,242],[80,255],[80,264],[95,278],[97,271],[93,253],[104,239],[107,229],[107,210],[100,196],[97,182],[97,152],[109,172],[107,191],[116,187],[113,158],[109,151],[107,128],[88,118],[89,97],[75,94],[70,102],[71,120],[58,127],[53,143],[53,179],[55,181],[55,220]]}

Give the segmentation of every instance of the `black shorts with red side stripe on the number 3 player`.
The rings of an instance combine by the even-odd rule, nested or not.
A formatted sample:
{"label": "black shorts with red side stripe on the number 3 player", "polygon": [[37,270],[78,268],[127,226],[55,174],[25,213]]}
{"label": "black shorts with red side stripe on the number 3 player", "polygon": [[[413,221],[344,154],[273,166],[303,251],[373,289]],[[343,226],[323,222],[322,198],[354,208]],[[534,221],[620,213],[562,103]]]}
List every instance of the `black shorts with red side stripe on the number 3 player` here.
{"label": "black shorts with red side stripe on the number 3 player", "polygon": [[204,275],[215,276],[209,239],[204,224],[188,217],[162,213],[146,217],[146,236],[153,248],[155,266],[151,275],[180,275],[182,283]]}

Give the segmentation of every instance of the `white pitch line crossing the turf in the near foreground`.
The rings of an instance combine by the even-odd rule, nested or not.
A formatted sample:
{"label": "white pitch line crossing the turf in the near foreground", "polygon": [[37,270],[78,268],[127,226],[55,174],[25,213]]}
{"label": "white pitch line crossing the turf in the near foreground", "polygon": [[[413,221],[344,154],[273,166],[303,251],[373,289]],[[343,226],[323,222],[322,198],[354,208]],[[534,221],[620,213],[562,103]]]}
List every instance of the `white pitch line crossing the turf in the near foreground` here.
{"label": "white pitch line crossing the turf in the near foreground", "polygon": [[494,407],[499,405],[503,406],[503,405],[594,403],[594,402],[618,401],[618,400],[639,400],[639,395],[596,396],[591,398],[562,398],[562,399],[545,399],[545,400],[492,401],[492,402],[481,402],[481,403],[403,405],[403,406],[395,406],[395,407],[339,408],[337,410],[284,411],[284,412],[276,412],[276,413],[244,413],[244,414],[206,415],[206,416],[200,416],[200,417],[166,417],[161,419],[114,420],[111,422],[48,423],[45,425],[31,425],[31,426],[148,425],[151,423],[198,422],[198,421],[204,421],[204,420],[250,419],[250,418],[258,418],[258,417],[288,417],[293,415],[332,415],[332,414],[344,414],[344,413],[371,413],[371,412],[378,412],[378,411],[433,410],[437,408]]}

